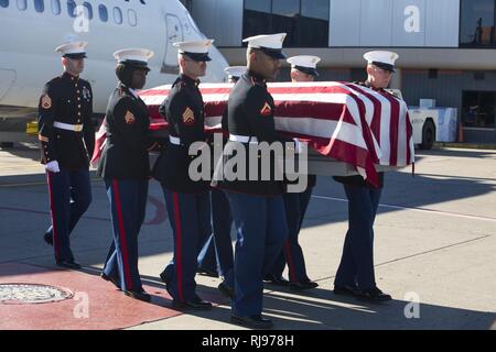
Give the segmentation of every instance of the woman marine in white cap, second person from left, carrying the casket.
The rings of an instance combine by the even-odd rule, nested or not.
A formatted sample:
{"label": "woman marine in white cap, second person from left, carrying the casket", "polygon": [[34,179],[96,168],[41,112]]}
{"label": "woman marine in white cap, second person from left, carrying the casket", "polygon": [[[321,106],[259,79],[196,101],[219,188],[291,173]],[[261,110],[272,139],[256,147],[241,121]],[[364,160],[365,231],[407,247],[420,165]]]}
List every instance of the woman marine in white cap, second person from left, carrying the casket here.
{"label": "woman marine in white cap, second person from left, carrying the casket", "polygon": [[119,84],[107,106],[107,141],[98,164],[110,201],[114,241],[101,277],[127,296],[149,301],[138,271],[138,234],[144,221],[150,163],[150,119],[136,89],[143,88],[153,52],[142,48],[118,51]]}

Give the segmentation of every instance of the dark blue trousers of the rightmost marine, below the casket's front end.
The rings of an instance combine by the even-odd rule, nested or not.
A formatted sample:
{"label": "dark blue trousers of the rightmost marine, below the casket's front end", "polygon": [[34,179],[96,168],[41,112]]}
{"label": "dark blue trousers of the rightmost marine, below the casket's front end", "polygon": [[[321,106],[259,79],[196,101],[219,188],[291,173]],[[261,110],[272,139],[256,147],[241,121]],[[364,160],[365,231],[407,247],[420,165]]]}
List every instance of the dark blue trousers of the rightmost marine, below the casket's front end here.
{"label": "dark blue trousers of the rightmost marine, below the casket's front end", "polygon": [[348,232],[334,285],[369,289],[374,274],[374,221],[382,189],[344,184],[348,198]]}

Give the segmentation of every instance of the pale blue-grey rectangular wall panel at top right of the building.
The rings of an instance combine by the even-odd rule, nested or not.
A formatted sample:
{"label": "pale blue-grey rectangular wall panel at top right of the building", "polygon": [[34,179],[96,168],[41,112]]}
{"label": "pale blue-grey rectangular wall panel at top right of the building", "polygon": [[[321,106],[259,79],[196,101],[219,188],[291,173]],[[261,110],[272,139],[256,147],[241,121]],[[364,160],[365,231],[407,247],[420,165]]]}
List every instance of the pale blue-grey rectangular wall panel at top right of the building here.
{"label": "pale blue-grey rectangular wall panel at top right of the building", "polygon": [[457,47],[459,32],[460,0],[331,0],[331,47]]}

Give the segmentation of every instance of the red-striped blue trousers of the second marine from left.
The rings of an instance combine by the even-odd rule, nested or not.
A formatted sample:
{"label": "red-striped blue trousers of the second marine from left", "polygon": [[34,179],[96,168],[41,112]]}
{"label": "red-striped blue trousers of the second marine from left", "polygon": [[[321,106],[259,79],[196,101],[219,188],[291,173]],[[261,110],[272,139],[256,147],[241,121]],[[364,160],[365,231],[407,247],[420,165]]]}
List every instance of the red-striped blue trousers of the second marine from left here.
{"label": "red-striped blue trousers of the second marine from left", "polygon": [[147,212],[148,180],[105,180],[110,201],[114,242],[104,273],[122,290],[141,292],[138,271],[138,234]]}

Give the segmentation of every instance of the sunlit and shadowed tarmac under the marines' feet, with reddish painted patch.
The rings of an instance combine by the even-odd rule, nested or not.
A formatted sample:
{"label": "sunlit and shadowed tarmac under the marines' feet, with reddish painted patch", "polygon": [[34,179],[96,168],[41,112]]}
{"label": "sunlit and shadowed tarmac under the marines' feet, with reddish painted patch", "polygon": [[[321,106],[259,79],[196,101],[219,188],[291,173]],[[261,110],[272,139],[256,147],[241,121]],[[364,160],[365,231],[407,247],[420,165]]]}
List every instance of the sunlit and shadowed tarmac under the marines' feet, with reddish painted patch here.
{"label": "sunlit and shadowed tarmac under the marines' feet, with reddish painted patch", "polygon": [[[60,270],[43,241],[48,197],[39,151],[0,150],[0,285],[45,284],[72,298],[45,304],[0,300],[0,329],[238,330],[218,278],[196,276],[211,311],[181,311],[160,282],[172,257],[163,195],[150,183],[139,270],[150,304],[122,295],[98,275],[111,242],[104,184],[91,178],[93,204],[72,249],[82,271]],[[94,174],[94,173],[93,173]],[[319,287],[291,292],[265,286],[263,314],[276,330],[496,329],[496,151],[417,151],[411,168],[387,173],[375,224],[378,286],[393,300],[374,305],[332,293],[347,229],[339,184],[319,177],[300,233],[309,276]],[[233,241],[236,234],[231,233]],[[233,242],[235,243],[235,242]]]}

